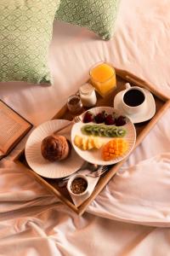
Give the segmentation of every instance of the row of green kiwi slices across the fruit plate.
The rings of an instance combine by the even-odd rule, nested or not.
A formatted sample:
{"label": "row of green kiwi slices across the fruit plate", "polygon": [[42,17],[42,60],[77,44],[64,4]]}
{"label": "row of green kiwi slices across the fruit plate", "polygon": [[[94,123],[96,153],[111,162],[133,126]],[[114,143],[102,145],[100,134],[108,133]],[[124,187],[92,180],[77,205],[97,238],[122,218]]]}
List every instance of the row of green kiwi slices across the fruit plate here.
{"label": "row of green kiwi slices across the fruit plate", "polygon": [[82,134],[99,137],[124,137],[127,131],[122,127],[108,125],[83,125]]}

